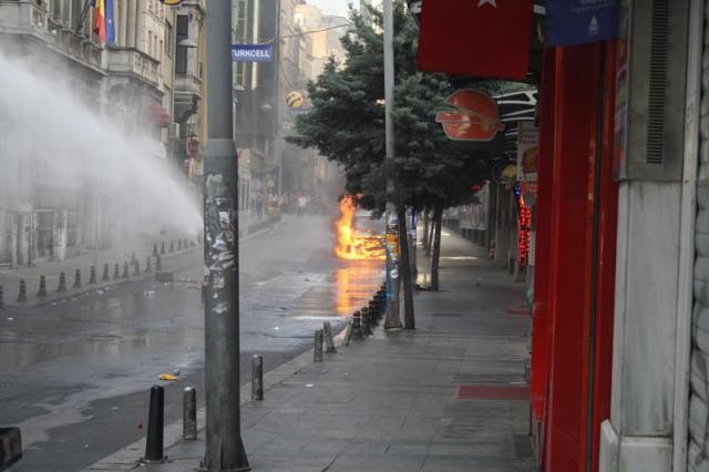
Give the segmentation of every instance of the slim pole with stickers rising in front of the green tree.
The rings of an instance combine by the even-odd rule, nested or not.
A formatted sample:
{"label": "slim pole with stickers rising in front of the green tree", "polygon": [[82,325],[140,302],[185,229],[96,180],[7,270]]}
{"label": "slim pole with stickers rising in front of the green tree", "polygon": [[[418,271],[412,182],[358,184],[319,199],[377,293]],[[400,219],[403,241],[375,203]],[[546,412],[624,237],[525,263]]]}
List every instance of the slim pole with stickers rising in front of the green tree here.
{"label": "slim pole with stickers rising in front of the green tree", "polygon": [[[387,161],[394,156],[394,122],[391,112],[394,106],[394,19],[391,0],[384,0],[384,131]],[[399,222],[397,207],[392,202],[394,183],[387,177],[387,320],[386,329],[402,329],[399,318]]]}

